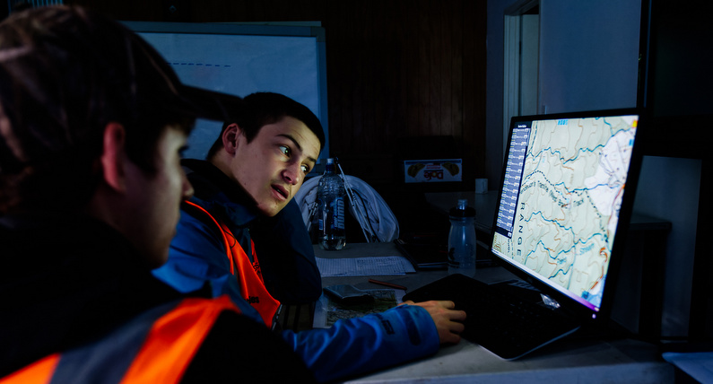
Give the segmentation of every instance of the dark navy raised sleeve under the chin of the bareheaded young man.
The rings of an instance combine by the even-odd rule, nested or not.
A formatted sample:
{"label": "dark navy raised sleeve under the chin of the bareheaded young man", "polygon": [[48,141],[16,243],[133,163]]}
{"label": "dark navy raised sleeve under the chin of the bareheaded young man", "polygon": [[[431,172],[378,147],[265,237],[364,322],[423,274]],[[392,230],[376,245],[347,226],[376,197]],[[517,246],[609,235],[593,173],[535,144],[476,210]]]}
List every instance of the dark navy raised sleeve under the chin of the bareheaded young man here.
{"label": "dark navy raised sleeve under the chin of the bareheaded young man", "polygon": [[265,287],[283,304],[314,302],[322,294],[315,250],[292,199],[279,214],[257,220],[250,229]]}

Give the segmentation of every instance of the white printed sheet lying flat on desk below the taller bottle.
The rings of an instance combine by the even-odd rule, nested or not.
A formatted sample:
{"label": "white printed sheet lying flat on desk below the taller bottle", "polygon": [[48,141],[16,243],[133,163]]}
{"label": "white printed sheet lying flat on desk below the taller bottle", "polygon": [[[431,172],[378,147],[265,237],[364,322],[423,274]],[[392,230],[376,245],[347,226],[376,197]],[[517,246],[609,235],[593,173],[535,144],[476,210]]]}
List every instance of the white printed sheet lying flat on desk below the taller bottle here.
{"label": "white printed sheet lying flat on desk below the taller bottle", "polygon": [[[325,258],[315,257],[322,277],[335,276],[395,276],[415,272],[404,257],[356,257]],[[407,264],[408,266],[406,266]]]}

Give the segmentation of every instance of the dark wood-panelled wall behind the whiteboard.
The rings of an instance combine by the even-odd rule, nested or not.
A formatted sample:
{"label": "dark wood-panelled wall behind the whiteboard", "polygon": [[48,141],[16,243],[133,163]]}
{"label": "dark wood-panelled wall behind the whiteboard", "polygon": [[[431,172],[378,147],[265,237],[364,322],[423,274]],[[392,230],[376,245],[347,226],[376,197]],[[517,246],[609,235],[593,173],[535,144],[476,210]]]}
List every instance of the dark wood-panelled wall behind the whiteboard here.
{"label": "dark wood-panelled wall behind the whiteboard", "polygon": [[[484,177],[485,1],[65,0],[70,3],[131,21],[321,22],[331,153],[345,172],[405,210],[422,204],[405,196],[414,189],[473,190],[474,178]],[[431,156],[463,158],[464,181],[404,186],[399,161]]]}

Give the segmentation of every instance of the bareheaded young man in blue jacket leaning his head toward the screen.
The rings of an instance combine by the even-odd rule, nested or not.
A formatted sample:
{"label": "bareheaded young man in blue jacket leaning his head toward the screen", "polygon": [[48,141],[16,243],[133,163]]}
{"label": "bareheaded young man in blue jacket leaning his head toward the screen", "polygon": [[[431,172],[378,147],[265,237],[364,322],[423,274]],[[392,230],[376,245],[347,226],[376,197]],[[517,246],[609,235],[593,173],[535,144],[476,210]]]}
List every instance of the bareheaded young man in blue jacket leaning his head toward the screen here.
{"label": "bareheaded young man in blue jacket leaning his head toward the screen", "polygon": [[[230,295],[246,316],[270,327],[280,292],[272,294],[262,276],[279,275],[269,270],[272,258],[318,274],[311,272],[317,269],[309,257],[294,250],[311,244],[292,197],[314,167],[324,133],[309,109],[284,95],[257,92],[244,103],[223,125],[207,161],[183,161],[195,195],[182,205],[169,261],[154,275],[183,292],[210,281],[213,295]],[[277,222],[273,233],[265,232],[269,220]],[[318,381],[407,362],[459,341],[465,312],[453,310],[452,301],[409,304],[339,320],[328,329],[284,330],[282,336]]]}

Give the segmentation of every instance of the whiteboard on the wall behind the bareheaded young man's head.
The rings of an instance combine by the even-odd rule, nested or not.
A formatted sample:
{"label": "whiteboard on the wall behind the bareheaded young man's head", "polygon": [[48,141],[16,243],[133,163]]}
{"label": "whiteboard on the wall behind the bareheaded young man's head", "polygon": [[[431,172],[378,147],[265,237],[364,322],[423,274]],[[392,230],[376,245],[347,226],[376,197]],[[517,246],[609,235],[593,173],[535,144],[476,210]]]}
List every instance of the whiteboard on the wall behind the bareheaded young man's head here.
{"label": "whiteboard on the wall behind the bareheaded young man's head", "polygon": [[[277,92],[300,101],[319,118],[329,153],[326,58],[321,27],[232,23],[124,22],[148,41],[183,83],[245,97]],[[187,158],[204,159],[222,122],[199,119]],[[321,162],[321,161],[320,161]]]}

